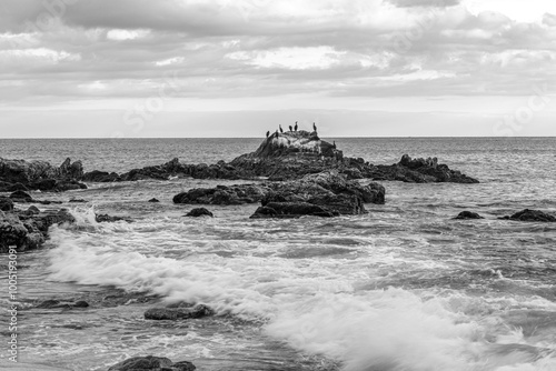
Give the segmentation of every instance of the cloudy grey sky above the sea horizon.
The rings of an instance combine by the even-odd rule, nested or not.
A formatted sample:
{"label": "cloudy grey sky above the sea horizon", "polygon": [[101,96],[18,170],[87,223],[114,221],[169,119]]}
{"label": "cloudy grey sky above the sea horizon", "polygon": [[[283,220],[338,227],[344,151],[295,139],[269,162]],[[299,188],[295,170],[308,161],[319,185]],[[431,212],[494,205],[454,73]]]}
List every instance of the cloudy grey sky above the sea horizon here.
{"label": "cloudy grey sky above the sea horizon", "polygon": [[2,0],[0,138],[556,136],[556,1]]}

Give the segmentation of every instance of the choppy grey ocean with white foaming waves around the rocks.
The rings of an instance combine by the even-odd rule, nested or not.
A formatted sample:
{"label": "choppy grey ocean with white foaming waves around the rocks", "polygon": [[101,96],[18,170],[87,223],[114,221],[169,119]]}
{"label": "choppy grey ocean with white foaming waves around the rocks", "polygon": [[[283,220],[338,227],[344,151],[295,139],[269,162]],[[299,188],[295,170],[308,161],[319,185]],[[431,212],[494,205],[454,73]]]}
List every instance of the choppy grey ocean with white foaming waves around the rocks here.
{"label": "choppy grey ocean with white foaming waves around the rocks", "polygon": [[[261,140],[2,139],[0,157],[56,164],[70,157],[86,171],[121,172],[175,157],[229,161]],[[480,183],[385,181],[386,204],[368,204],[368,214],[297,220],[250,220],[257,204],[208,205],[216,218],[190,219],[191,205],[171,202],[191,188],[246,181],[33,192],[63,201],[78,222],[19,254],[22,305],[135,294],[116,307],[21,311],[20,361],[79,371],[148,354],[211,371],[556,370],[556,225],[497,219],[526,208],[556,212],[556,138],[327,140],[375,164],[437,157]],[[463,210],[485,219],[453,220]],[[97,223],[95,213],[133,222]],[[178,301],[218,315],[143,319],[148,308]],[[6,329],[0,334],[6,342]]]}

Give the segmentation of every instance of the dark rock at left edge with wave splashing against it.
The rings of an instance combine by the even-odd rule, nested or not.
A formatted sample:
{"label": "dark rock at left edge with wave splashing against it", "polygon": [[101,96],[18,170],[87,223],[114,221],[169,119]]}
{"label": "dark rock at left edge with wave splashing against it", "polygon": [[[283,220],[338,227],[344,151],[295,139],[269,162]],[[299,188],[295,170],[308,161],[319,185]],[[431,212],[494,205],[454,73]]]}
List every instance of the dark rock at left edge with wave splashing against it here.
{"label": "dark rock at left edge with wave splashing against it", "polygon": [[37,212],[38,209],[0,213],[0,252],[9,247],[19,251],[38,249],[48,238],[53,224],[73,223],[76,219],[67,210]]}

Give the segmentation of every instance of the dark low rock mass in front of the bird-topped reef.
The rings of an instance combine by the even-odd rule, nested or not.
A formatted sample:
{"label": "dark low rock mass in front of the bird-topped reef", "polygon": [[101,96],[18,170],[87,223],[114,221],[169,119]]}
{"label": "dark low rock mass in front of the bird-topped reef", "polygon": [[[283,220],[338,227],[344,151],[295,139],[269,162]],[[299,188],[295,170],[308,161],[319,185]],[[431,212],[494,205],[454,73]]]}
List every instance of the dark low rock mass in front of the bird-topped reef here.
{"label": "dark low rock mass in front of the bird-topped reef", "polygon": [[252,218],[336,217],[365,213],[364,203],[384,203],[385,188],[361,186],[337,171],[307,174],[299,180],[192,189],[175,203],[242,204],[261,202]]}

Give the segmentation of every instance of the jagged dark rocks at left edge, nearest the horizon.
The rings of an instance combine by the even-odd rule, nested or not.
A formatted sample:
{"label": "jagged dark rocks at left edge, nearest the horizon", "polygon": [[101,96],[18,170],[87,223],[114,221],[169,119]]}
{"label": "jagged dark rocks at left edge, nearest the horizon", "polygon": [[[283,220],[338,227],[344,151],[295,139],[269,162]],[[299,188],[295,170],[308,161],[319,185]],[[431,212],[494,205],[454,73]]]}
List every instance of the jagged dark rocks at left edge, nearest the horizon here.
{"label": "jagged dark rocks at left edge, nearest the horizon", "polygon": [[87,189],[78,182],[83,176],[81,161],[66,159],[59,167],[46,161],[7,160],[0,158],[0,191],[68,191]]}

